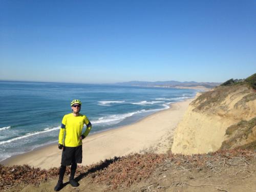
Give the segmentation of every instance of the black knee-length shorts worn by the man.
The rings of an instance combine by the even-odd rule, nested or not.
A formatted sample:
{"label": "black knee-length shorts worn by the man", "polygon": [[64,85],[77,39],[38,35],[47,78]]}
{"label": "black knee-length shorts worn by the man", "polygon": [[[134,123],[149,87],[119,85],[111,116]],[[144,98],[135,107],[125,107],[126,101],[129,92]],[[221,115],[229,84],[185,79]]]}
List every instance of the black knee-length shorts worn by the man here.
{"label": "black knee-length shorts worn by the man", "polygon": [[70,147],[64,146],[61,156],[61,165],[71,165],[82,162],[82,145]]}

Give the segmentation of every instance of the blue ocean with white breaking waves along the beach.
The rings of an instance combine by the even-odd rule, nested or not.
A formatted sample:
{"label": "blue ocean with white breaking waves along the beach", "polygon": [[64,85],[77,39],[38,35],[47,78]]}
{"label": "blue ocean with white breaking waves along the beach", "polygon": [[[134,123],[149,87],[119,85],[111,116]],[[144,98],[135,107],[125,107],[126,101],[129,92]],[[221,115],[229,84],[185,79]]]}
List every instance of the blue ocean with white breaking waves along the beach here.
{"label": "blue ocean with white breaking waves along the beach", "polygon": [[[48,82],[0,81],[0,161],[58,142],[63,115],[80,99],[90,134],[134,123],[198,90]],[[84,127],[86,129],[86,126]]]}

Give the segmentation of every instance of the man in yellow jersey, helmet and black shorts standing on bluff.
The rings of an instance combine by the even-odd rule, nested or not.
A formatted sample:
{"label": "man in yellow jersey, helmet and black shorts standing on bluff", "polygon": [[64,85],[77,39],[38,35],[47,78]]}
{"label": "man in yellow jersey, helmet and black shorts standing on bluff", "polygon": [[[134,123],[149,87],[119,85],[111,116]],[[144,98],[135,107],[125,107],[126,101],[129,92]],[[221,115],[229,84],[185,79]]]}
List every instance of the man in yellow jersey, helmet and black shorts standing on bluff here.
{"label": "man in yellow jersey, helmet and black shorts standing on bluff", "polygon": [[[92,124],[85,115],[80,114],[81,101],[75,99],[71,101],[72,113],[63,117],[60,131],[58,148],[62,150],[61,166],[59,169],[59,180],[54,187],[55,191],[63,187],[63,177],[66,172],[66,166],[71,165],[71,173],[69,182],[73,187],[79,184],[74,180],[77,163],[82,162],[82,139],[86,138],[92,129]],[[83,125],[86,124],[87,129],[82,134]],[[66,134],[64,142],[64,134]]]}

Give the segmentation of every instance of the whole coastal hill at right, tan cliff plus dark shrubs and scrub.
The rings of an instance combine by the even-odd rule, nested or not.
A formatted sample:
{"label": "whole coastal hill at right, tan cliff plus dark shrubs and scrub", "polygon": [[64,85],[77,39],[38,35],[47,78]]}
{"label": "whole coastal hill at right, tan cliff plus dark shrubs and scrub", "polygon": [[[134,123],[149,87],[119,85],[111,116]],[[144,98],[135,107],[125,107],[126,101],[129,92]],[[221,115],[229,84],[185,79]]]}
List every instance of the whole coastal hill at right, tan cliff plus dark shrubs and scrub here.
{"label": "whole coastal hill at right, tan cliff plus dark shrubs and scrub", "polygon": [[256,74],[222,83],[190,103],[179,123],[172,152],[204,154],[222,149],[255,148]]}

